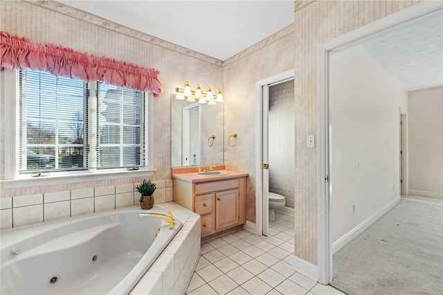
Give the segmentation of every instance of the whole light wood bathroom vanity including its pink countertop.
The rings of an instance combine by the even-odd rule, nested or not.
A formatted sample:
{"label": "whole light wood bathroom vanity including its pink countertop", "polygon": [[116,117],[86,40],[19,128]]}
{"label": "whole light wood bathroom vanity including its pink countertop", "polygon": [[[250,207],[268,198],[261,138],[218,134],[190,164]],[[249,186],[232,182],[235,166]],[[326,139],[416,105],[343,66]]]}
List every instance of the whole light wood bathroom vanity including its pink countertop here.
{"label": "whole light wood bathroom vanity including its pink countertop", "polygon": [[224,165],[214,171],[222,175],[199,175],[197,167],[172,168],[174,202],[201,216],[202,238],[246,222],[248,174],[224,170]]}

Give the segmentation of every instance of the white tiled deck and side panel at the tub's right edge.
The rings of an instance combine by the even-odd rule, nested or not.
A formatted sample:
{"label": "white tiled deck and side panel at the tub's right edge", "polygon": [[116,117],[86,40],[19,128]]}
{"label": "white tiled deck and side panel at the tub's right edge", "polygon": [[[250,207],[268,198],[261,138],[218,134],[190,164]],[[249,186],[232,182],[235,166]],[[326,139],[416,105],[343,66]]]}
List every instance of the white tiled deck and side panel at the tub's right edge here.
{"label": "white tiled deck and side panel at the tub's right edge", "polygon": [[183,226],[129,294],[184,294],[200,257],[200,215],[174,202],[154,206]]}

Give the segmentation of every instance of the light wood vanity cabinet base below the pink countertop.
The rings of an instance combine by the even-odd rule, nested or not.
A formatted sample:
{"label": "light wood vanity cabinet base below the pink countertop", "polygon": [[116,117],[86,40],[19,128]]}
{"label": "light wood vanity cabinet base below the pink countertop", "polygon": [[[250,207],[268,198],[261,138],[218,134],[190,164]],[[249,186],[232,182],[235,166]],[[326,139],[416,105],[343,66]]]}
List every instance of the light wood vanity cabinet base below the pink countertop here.
{"label": "light wood vanity cabinet base below the pink countertop", "polygon": [[201,215],[201,237],[246,222],[247,177],[192,183],[173,179],[174,202]]}

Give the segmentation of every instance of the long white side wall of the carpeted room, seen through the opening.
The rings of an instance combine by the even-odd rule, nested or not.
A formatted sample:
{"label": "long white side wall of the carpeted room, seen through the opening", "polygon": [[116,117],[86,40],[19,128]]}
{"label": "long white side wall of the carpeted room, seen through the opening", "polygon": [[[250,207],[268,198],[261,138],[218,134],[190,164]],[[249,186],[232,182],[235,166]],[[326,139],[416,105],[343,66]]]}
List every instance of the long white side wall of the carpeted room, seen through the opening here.
{"label": "long white side wall of the carpeted room, seen through the opening", "polygon": [[361,46],[331,55],[333,244],[399,199],[399,109],[407,110],[406,98]]}

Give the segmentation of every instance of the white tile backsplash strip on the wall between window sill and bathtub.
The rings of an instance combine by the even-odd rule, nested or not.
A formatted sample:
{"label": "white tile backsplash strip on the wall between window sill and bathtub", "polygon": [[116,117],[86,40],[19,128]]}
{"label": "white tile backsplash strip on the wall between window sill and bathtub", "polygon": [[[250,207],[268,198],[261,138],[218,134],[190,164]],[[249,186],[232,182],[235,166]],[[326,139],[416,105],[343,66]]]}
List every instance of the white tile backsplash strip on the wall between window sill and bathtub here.
{"label": "white tile backsplash strip on the wall between window sill and bathtub", "polygon": [[[172,179],[153,181],[155,204],[172,202]],[[138,205],[136,184],[0,198],[0,229]]]}

